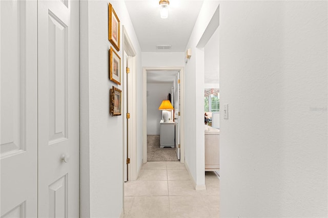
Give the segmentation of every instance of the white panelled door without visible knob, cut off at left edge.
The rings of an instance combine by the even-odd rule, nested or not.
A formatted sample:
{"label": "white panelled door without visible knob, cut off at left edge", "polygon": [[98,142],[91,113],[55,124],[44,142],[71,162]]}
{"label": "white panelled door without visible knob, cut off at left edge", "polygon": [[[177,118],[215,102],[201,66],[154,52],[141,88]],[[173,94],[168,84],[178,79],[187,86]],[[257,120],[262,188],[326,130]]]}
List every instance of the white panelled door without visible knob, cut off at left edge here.
{"label": "white panelled door without visible knob, cut off at left edge", "polygon": [[0,1],[1,217],[37,217],[37,2]]}

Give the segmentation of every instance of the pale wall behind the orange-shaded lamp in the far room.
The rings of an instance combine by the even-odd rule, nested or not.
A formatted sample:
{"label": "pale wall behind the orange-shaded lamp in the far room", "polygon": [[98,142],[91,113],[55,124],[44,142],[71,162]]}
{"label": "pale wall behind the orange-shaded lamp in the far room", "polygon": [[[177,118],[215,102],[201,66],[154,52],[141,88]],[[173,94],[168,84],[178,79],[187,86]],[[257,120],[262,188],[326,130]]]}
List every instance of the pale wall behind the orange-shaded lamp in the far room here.
{"label": "pale wall behind the orange-shaded lamp in the far room", "polygon": [[158,110],[162,100],[168,99],[172,84],[147,83],[147,135],[159,135],[162,111]]}

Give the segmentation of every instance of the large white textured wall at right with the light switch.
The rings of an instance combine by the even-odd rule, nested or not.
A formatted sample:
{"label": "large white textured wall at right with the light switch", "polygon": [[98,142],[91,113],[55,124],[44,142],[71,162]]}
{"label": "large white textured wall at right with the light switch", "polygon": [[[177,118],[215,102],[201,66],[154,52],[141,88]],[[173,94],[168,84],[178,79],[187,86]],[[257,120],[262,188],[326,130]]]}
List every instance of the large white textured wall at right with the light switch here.
{"label": "large white textured wall at right with the light switch", "polygon": [[327,2],[220,2],[219,28],[220,216],[327,217]]}

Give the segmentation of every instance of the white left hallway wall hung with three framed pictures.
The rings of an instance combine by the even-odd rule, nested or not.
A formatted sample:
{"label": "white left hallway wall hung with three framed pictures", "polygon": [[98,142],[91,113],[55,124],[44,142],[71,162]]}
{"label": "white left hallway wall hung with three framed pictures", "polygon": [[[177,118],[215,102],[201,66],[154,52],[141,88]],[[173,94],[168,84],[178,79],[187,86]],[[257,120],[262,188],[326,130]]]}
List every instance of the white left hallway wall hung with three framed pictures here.
{"label": "white left hallway wall hung with three framed pictures", "polygon": [[[142,82],[141,52],[123,1],[111,2],[137,52],[137,85]],[[120,28],[122,31],[122,27]],[[121,32],[122,33],[122,32]],[[122,34],[121,45],[122,48]],[[80,2],[80,216],[118,217],[123,208],[122,119],[109,114],[108,2]],[[122,57],[122,49],[118,52]],[[121,60],[121,64],[123,61]],[[122,76],[124,76],[122,72]],[[141,83],[142,84],[142,83]],[[141,86],[141,85],[139,85]],[[141,88],[142,89],[142,88]],[[140,89],[137,89],[141,96]],[[139,97],[139,99],[142,99]],[[139,107],[140,108],[140,107]],[[142,111],[138,119],[142,121]],[[139,120],[140,122],[140,120]],[[142,129],[139,128],[139,129]],[[140,131],[140,130],[138,130]],[[139,133],[140,134],[140,133]],[[141,132],[142,135],[142,132]],[[137,139],[141,152],[142,141]]]}

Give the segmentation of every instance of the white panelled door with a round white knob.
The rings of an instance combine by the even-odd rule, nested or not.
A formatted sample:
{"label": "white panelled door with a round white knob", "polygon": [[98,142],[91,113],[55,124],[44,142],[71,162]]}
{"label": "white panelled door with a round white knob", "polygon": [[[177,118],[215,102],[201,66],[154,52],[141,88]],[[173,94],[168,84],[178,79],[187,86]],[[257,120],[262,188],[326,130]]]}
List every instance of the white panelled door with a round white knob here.
{"label": "white panelled door with a round white knob", "polygon": [[79,215],[79,3],[38,1],[38,216]]}

